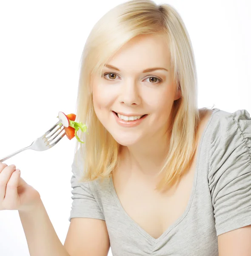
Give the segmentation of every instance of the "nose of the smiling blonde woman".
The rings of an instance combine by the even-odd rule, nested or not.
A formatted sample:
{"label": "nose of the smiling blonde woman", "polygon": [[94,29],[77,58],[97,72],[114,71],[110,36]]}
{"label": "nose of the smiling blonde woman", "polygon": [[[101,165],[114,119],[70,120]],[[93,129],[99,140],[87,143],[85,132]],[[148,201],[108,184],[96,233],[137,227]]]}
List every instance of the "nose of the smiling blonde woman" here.
{"label": "nose of the smiling blonde woman", "polygon": [[120,102],[128,106],[140,105],[140,93],[136,82],[128,81],[123,84],[120,94]]}

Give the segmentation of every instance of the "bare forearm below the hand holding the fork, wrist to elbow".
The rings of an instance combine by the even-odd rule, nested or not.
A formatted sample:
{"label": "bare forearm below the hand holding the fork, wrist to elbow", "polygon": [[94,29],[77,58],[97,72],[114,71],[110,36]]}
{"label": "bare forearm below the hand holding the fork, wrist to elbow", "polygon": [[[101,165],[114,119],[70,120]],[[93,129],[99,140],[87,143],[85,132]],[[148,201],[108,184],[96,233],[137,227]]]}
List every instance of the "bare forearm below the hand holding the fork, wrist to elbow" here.
{"label": "bare forearm below the hand holding the fork, wrist to elbow", "polygon": [[70,256],[59,240],[41,200],[32,211],[18,213],[30,256]]}

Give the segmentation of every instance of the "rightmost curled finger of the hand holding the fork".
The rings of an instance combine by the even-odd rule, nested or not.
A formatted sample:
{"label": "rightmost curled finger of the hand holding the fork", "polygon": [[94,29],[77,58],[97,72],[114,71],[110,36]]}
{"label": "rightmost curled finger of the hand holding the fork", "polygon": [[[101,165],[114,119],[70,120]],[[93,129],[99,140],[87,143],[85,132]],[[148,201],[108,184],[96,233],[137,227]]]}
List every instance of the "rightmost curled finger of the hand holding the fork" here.
{"label": "rightmost curled finger of the hand holding the fork", "polygon": [[11,177],[6,186],[5,197],[3,199],[3,204],[5,207],[8,207],[8,209],[14,209],[14,207],[17,205],[17,185],[19,183],[19,179],[20,171],[17,169],[11,174]]}

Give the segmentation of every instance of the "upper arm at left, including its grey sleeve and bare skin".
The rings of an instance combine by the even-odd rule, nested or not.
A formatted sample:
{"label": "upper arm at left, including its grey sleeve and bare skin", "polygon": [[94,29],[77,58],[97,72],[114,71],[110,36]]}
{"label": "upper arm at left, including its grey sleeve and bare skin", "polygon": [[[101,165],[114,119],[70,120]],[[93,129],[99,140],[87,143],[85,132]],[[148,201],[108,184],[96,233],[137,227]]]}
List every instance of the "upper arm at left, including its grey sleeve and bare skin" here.
{"label": "upper arm at left, including its grey sleeve and bare skin", "polygon": [[[77,159],[80,159],[80,165],[77,164]],[[71,165],[73,202],[64,247],[71,256],[107,256],[110,240],[106,218],[102,207],[100,208],[102,202],[98,203],[95,197],[98,194],[97,186],[92,186],[96,181],[80,181],[84,171],[83,159],[79,149]]]}

